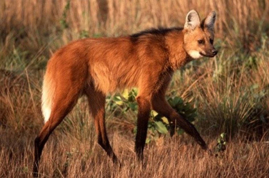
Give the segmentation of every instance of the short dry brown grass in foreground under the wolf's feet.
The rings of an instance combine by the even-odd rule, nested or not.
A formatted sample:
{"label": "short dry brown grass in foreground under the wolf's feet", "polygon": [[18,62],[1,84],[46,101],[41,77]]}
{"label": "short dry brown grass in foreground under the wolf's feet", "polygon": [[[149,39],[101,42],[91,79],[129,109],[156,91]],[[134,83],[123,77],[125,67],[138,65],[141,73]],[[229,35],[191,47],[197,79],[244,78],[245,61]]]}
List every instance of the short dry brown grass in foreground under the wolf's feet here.
{"label": "short dry brown grass in foreground under the wolf's feet", "polygon": [[[110,134],[110,140],[124,165],[120,169],[94,142],[93,131],[89,129],[89,137],[82,140],[56,131],[43,151],[42,177],[267,177],[269,174],[268,142],[236,138],[225,152],[215,157],[192,145],[193,140],[187,137],[161,137],[159,144],[146,147],[143,168],[135,161],[133,139],[116,132]],[[3,130],[1,133],[1,177],[31,177],[34,136],[18,137]],[[211,148],[216,144],[209,138],[206,141]]]}

